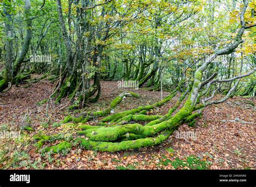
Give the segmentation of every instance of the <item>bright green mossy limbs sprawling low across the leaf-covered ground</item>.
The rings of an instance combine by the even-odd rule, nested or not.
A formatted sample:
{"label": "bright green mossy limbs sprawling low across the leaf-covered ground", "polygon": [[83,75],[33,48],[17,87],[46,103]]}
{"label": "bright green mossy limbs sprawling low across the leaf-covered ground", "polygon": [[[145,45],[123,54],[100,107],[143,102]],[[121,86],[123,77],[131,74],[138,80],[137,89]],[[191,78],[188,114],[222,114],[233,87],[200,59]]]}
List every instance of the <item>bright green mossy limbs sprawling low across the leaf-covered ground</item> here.
{"label": "bright green mossy limbs sprawling low across the leaf-covered ground", "polygon": [[[102,121],[110,121],[110,123],[100,123],[98,126],[91,125],[83,125],[79,124],[76,129],[78,136],[82,136],[81,138],[73,139],[73,143],[83,146],[86,149],[91,150],[99,150],[99,151],[107,151],[107,152],[116,152],[119,150],[125,149],[136,149],[140,147],[146,146],[154,146],[158,145],[164,140],[168,138],[170,134],[174,131],[175,128],[184,121],[194,121],[199,114],[192,114],[194,111],[194,107],[191,105],[190,97],[186,100],[184,106],[174,115],[171,114],[178,108],[180,103],[184,100],[189,89],[181,95],[178,102],[169,110],[165,116],[161,115],[145,115],[139,113],[145,113],[149,109],[154,109],[157,106],[161,106],[171,100],[177,93],[175,91],[173,94],[169,95],[163,100],[160,100],[157,103],[152,105],[140,106],[136,109],[132,109],[125,112],[120,112],[117,114],[113,114],[110,120],[102,120]],[[135,96],[135,93],[122,93],[115,99],[113,99],[107,109],[95,113],[90,113],[88,116],[99,117],[104,116],[110,113],[111,110],[116,107],[118,103],[120,103],[124,96]],[[138,114],[136,114],[138,113]],[[88,117],[87,116],[87,117]],[[114,117],[114,118],[113,118]],[[109,117],[107,117],[109,118]],[[68,121],[75,121],[79,123],[84,120],[83,116],[79,118],[68,117],[65,118],[63,123]],[[77,121],[76,121],[77,120]],[[127,124],[129,121],[150,121],[146,125],[141,125],[139,123]],[[101,126],[104,125],[104,126]],[[52,136],[43,136],[39,135],[35,137],[38,140],[38,148],[43,146],[45,141],[50,141]],[[57,135],[53,136],[57,137]],[[52,150],[53,153],[58,153],[60,150],[65,148],[70,148],[71,145],[69,142],[62,142],[56,146],[44,148],[44,151]]]}

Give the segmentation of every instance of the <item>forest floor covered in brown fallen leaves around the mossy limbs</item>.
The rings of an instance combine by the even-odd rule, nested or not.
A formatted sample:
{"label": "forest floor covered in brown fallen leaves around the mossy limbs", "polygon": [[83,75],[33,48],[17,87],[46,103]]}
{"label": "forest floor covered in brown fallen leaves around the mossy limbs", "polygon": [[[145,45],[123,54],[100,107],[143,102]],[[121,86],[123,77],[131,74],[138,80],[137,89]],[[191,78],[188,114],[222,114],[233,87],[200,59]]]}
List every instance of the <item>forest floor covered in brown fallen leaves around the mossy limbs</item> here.
{"label": "forest floor covered in brown fallen leaves around the mossy limbs", "polygon": [[[50,102],[50,117],[47,118],[46,104],[38,102],[51,95],[55,84],[43,80],[28,88],[24,86],[14,86],[0,93],[0,130],[15,131],[29,124],[35,131],[22,131],[19,140],[0,139],[0,169],[255,169],[255,97],[233,97],[225,103],[207,107],[203,117],[197,119],[196,127],[181,125],[159,146],[117,153],[72,147],[66,154],[43,155],[36,152],[32,136],[39,131],[54,134],[62,128],[52,125],[54,122],[82,110],[68,111],[71,104],[65,99],[61,104]],[[115,81],[103,81],[99,101],[83,110],[102,110],[125,90],[137,92],[140,97],[127,97],[114,112],[160,100],[158,91],[118,88]],[[163,93],[163,97],[167,95],[168,92]],[[150,113],[165,114],[177,99]],[[192,136],[188,137],[188,133]]]}

